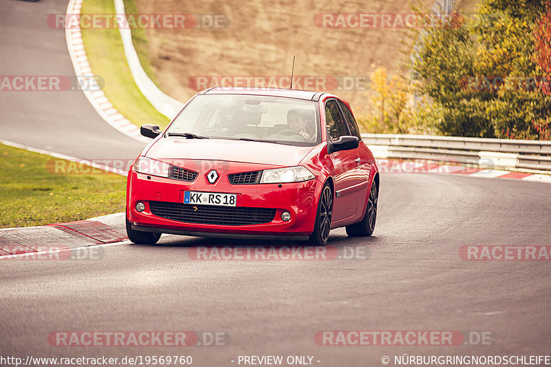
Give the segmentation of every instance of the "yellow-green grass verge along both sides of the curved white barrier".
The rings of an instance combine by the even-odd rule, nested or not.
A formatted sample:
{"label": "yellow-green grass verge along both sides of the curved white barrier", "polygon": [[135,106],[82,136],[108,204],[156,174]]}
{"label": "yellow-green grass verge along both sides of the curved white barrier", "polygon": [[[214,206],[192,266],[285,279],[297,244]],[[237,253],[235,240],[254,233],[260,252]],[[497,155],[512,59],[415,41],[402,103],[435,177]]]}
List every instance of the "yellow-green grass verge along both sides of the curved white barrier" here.
{"label": "yellow-green grass verge along both sides of the curved white barrier", "polygon": [[[134,1],[125,1],[126,12],[136,12]],[[112,0],[85,0],[82,13],[114,14]],[[147,39],[143,29],[133,30],[136,50],[145,72],[151,77],[153,72],[147,55]],[[132,78],[118,29],[83,28],[82,39],[86,56],[94,75],[101,76],[105,81],[103,92],[113,106],[132,123],[142,125],[154,123],[164,128],[168,118],[160,114],[140,92]]]}

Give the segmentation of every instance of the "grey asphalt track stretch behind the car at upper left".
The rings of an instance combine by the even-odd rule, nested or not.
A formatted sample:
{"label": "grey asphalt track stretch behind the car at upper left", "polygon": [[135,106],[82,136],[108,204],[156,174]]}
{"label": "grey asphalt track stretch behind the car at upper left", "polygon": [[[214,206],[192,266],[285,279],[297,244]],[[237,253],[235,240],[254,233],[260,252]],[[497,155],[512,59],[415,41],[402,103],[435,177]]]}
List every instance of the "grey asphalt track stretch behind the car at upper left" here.
{"label": "grey asphalt track stretch behind the car at upper left", "polygon": [[[0,75],[74,76],[65,30],[48,14],[65,14],[66,0],[0,2]],[[145,143],[105,123],[80,91],[0,90],[0,138],[81,159],[136,158]]]}

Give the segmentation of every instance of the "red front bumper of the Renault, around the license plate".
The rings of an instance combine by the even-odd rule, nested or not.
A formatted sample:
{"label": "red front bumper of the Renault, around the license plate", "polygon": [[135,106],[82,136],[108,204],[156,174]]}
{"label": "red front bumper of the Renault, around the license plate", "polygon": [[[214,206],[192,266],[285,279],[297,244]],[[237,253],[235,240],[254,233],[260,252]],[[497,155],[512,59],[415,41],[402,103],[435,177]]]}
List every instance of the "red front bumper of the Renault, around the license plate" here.
{"label": "red front bumper of the Renault, around the license plate", "polygon": [[[279,184],[231,185],[228,174],[258,169],[232,167],[219,170],[220,179],[210,185],[205,172],[200,172],[194,182],[160,178],[138,174],[131,170],[127,182],[127,219],[132,229],[158,233],[185,235],[286,235],[289,239],[304,238],[313,231],[318,198],[322,183],[317,179],[305,182]],[[237,207],[275,209],[273,220],[262,224],[225,225],[181,222],[154,215],[149,202],[183,203],[184,191],[237,193]],[[136,202],[145,204],[145,210],[136,211]],[[281,219],[284,211],[291,213],[291,220]]]}

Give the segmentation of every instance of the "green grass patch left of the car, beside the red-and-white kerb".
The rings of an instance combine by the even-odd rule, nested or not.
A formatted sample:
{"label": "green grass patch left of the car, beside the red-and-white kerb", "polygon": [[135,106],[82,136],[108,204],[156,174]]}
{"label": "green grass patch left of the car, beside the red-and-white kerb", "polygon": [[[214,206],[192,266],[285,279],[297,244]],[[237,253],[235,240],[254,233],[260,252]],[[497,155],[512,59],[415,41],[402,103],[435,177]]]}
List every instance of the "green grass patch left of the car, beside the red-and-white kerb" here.
{"label": "green grass patch left of the car, beside the red-and-white kerb", "polygon": [[124,211],[125,177],[104,171],[54,174],[55,160],[58,158],[0,145],[0,228],[70,222]]}

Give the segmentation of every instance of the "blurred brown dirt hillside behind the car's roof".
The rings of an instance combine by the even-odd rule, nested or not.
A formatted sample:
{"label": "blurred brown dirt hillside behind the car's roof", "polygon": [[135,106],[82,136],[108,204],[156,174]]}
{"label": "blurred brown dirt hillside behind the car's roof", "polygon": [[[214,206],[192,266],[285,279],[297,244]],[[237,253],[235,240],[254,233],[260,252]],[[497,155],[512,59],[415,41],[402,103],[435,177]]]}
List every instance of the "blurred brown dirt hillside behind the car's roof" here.
{"label": "blurred brown dirt hillside behind the car's roof", "polygon": [[[307,90],[325,87],[350,101],[355,109],[364,105],[366,92],[362,89],[373,65],[386,67],[389,74],[404,67],[408,31],[399,25],[388,28],[388,24],[387,28],[371,25],[330,28],[339,24],[339,18],[324,18],[323,14],[364,13],[375,17],[404,14],[411,12],[409,3],[407,0],[136,0],[140,13],[208,14],[195,17],[198,26],[218,20],[218,29],[196,25],[192,29],[146,30],[156,80],[174,98],[185,101],[197,89],[213,83],[207,76],[230,76],[225,82],[233,84],[247,83],[247,76],[264,77],[267,84],[275,76],[279,78],[272,82],[285,86],[282,76],[291,73],[295,55],[295,76],[317,76],[299,78],[298,87]],[[433,1],[421,3],[430,6]],[[214,18],[211,14],[219,16]],[[355,23],[351,18],[346,24]],[[377,18],[371,18],[371,23],[364,25],[376,23]],[[258,78],[250,81],[249,78],[249,83],[262,83]]]}

